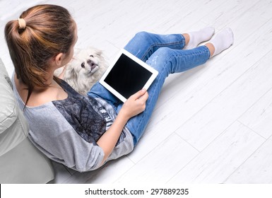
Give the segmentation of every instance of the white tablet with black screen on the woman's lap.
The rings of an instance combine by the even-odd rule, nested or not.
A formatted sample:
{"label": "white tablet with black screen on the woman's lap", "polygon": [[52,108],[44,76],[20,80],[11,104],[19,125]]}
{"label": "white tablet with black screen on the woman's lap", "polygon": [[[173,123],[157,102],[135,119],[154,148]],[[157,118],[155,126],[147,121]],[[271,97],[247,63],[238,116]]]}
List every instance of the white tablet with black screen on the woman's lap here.
{"label": "white tablet with black screen on the woman's lap", "polygon": [[156,76],[158,71],[123,49],[99,82],[122,102],[126,102],[137,91],[143,88],[148,90]]}

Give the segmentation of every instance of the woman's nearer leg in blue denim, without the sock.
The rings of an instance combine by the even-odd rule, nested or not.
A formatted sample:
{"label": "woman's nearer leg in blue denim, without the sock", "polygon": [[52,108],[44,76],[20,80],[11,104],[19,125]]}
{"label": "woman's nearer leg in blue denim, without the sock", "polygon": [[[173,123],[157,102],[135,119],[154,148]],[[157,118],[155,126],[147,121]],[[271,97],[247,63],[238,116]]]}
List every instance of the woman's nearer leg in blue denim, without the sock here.
{"label": "woman's nearer leg in blue denim, without the sock", "polygon": [[[158,70],[159,74],[148,88],[149,97],[146,101],[146,110],[136,117],[132,117],[126,124],[126,127],[134,136],[134,145],[138,143],[146,129],[165,78],[169,74],[186,71],[204,64],[209,57],[210,51],[206,46],[196,47],[193,50],[173,50],[162,47],[151,55],[146,63]],[[117,112],[121,107],[122,105],[119,105]]]}

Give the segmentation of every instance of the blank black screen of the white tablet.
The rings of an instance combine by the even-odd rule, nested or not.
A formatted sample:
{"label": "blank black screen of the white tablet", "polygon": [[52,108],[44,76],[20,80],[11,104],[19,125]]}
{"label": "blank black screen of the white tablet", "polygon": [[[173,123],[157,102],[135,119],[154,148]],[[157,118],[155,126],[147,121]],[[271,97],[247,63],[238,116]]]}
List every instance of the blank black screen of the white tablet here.
{"label": "blank black screen of the white tablet", "polygon": [[122,54],[105,78],[105,82],[127,99],[140,91],[150,76],[150,71]]}

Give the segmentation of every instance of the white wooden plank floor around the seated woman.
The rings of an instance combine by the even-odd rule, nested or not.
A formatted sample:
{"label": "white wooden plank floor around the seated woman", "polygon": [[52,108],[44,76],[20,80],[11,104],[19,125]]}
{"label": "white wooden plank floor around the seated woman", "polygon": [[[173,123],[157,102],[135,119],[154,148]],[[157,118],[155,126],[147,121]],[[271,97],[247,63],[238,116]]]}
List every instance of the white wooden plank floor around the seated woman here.
{"label": "white wooden plank floor around the seated woman", "polygon": [[91,173],[54,163],[55,183],[272,183],[271,0],[0,1],[0,57],[12,64],[6,21],[59,4],[78,23],[76,47],[111,60],[135,33],[230,27],[235,44],[206,65],[170,76],[135,150]]}

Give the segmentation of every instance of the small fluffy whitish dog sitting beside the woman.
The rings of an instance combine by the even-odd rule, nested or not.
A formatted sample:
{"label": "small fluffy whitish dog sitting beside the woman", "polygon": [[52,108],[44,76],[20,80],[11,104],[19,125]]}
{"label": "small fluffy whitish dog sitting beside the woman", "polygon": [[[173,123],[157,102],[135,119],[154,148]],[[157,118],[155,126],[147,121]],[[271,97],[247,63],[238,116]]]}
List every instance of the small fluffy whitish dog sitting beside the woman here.
{"label": "small fluffy whitish dog sitting beside the woman", "polygon": [[78,50],[65,69],[57,69],[54,74],[69,83],[78,93],[86,95],[107,69],[102,51],[93,47]]}

